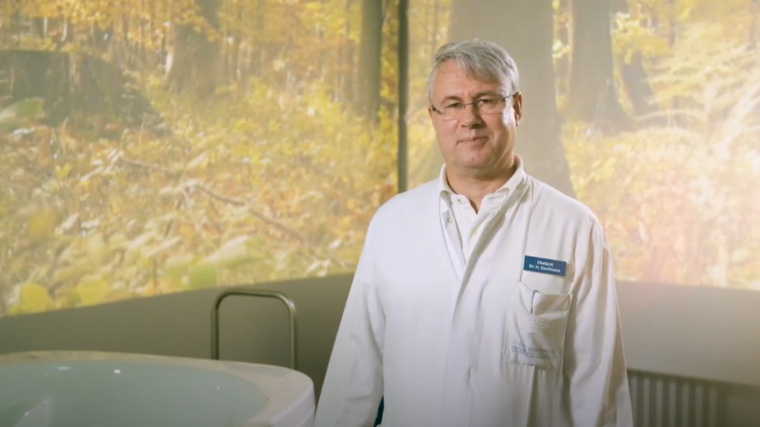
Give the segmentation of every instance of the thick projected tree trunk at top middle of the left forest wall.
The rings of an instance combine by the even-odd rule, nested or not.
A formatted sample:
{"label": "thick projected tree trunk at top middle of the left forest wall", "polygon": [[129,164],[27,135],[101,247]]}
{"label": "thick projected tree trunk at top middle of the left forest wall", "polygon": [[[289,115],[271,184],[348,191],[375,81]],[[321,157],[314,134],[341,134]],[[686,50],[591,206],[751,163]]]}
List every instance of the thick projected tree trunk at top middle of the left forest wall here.
{"label": "thick projected tree trunk at top middle of the left forest wall", "polygon": [[[219,30],[219,0],[195,0],[201,17],[216,31]],[[217,67],[221,46],[209,39],[204,30],[195,31],[192,25],[177,28],[174,52],[167,80],[178,92],[191,92],[203,99],[211,96],[217,86]]]}

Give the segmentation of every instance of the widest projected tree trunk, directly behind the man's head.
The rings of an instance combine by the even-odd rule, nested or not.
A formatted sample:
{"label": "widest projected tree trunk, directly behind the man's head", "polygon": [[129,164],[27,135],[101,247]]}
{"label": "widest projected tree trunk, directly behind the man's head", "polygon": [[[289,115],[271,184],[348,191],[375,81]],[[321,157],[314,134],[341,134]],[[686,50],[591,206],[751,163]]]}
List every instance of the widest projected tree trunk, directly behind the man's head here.
{"label": "widest projected tree trunk, directly behind the man's head", "polygon": [[[523,119],[515,151],[528,173],[574,197],[556,106],[553,19],[552,2],[548,0],[484,0],[478,7],[468,0],[454,0],[449,38],[490,40],[512,55],[523,93]],[[505,26],[506,21],[509,26]],[[428,171],[430,179],[438,176],[443,162],[437,147],[434,152],[437,161]]]}

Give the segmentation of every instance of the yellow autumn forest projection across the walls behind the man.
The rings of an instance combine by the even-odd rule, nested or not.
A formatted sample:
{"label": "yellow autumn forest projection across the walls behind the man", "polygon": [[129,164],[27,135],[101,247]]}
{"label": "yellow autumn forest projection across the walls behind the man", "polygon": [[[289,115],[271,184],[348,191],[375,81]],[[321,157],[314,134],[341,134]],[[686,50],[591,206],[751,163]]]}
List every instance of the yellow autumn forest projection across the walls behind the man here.
{"label": "yellow autumn forest projection across the walls behind the man", "polygon": [[[0,316],[349,272],[396,192],[398,0],[6,0]],[[756,0],[411,0],[409,180],[448,40],[522,74],[517,151],[621,280],[760,289]]]}

